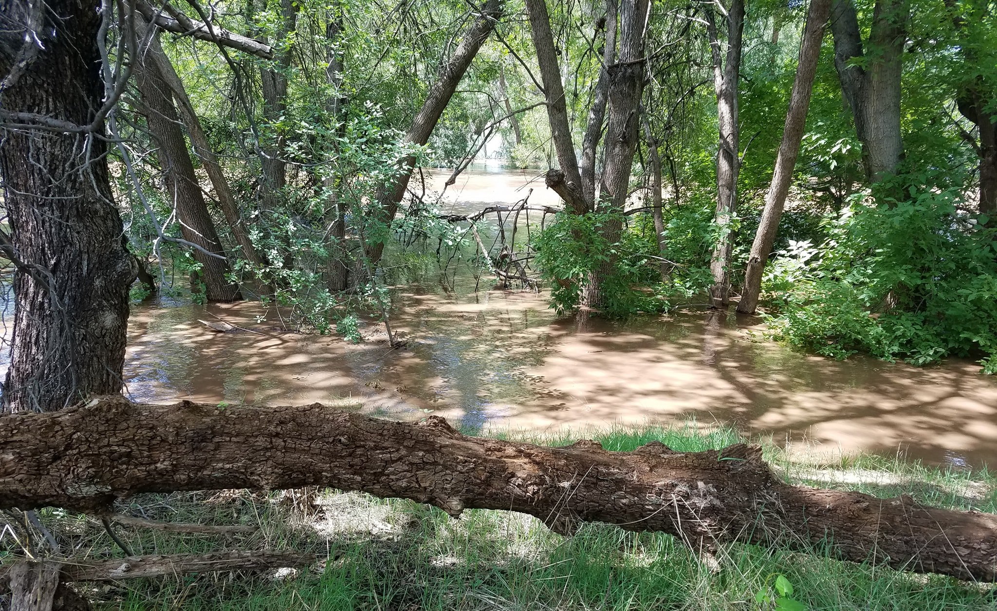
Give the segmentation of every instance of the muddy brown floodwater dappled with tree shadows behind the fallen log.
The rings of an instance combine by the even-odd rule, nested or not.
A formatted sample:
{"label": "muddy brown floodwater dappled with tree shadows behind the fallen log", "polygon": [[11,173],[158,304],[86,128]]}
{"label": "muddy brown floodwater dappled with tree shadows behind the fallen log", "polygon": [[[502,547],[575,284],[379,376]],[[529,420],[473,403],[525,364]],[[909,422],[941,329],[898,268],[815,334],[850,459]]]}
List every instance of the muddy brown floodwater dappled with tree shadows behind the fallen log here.
{"label": "muddy brown floodwater dappled with tree shadows behind the fallen log", "polygon": [[[439,186],[448,173],[427,183]],[[511,203],[530,186],[530,203],[549,203],[535,173],[470,172],[448,189],[444,208]],[[733,313],[558,318],[530,291],[487,290],[483,280],[476,292],[474,278],[460,274],[439,280],[396,289],[392,324],[408,344],[395,350],[377,324],[353,346],[285,332],[279,313],[255,302],[135,306],[128,392],[148,402],[333,403],[405,420],[432,413],[472,431],[583,433],[695,418],[822,459],[901,452],[980,466],[997,458],[997,380],[973,363],[838,362],[764,341],[757,319]],[[198,322],[215,317],[254,332]]]}

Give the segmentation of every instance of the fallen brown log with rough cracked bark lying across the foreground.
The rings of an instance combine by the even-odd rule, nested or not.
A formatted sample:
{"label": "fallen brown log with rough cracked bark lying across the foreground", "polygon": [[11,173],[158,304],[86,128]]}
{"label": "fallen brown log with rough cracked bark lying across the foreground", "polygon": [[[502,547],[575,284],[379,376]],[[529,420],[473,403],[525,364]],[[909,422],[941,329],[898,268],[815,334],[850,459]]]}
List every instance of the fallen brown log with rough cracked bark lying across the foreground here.
{"label": "fallen brown log with rough cracked bark lying across the foreground", "polygon": [[997,580],[997,515],[790,485],[761,450],[631,453],[470,438],[441,418],[376,420],[318,404],[261,408],[120,396],[49,414],[0,416],[0,508],[108,512],[139,492],[321,485],[464,509],[655,530],[695,549],[743,541],[845,560]]}

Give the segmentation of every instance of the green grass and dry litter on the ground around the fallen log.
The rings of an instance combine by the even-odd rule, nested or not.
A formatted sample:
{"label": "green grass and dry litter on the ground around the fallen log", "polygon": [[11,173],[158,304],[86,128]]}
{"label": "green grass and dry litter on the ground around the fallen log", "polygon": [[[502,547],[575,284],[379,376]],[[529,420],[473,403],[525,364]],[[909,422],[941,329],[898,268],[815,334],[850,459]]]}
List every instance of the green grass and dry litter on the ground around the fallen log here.
{"label": "green grass and dry litter on the ground around the fallen log", "polygon": [[[740,441],[731,430],[703,430],[692,423],[590,437],[607,450],[632,450],[657,440],[690,452]],[[790,462],[772,445],[766,455],[796,483],[877,496],[906,493],[933,505],[997,512],[997,475],[987,471],[871,456],[803,464]],[[756,595],[771,590],[778,575],[811,610],[997,609],[997,586],[839,562],[821,546],[799,553],[733,544],[706,558],[661,533],[588,524],[565,538],[518,513],[470,510],[451,519],[412,501],[333,490],[149,494],[118,510],[149,519],[259,527],[223,537],[119,526],[134,553],[292,549],[315,551],[323,560],[265,574],[206,573],[85,586],[102,609],[774,609],[756,602]],[[73,541],[79,555],[124,555],[92,518],[52,510],[42,517]]]}

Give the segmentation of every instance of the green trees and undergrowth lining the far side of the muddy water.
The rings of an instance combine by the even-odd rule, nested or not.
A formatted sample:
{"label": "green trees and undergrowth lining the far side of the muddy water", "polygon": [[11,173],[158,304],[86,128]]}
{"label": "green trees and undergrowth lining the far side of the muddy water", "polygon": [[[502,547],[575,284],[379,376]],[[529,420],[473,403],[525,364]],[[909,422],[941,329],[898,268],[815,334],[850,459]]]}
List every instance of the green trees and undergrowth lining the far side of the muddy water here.
{"label": "green trees and undergrowth lining the far side of the muddy water", "polygon": [[[133,296],[189,276],[194,300],[260,297],[349,332],[390,316],[386,249],[423,248],[547,288],[559,312],[731,303],[825,356],[994,371],[992,3],[540,8],[227,7],[215,25],[262,45],[238,55],[142,30],[149,78],[112,112],[109,151],[149,272]],[[443,214],[419,168],[453,181],[486,154],[563,211]]]}

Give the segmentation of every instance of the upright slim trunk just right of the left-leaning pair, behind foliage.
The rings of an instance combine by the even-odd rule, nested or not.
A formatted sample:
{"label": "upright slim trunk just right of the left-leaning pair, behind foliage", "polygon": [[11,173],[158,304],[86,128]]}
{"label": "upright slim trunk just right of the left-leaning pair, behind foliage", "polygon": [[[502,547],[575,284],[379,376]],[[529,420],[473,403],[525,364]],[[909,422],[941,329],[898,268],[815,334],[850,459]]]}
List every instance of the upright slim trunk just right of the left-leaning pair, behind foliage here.
{"label": "upright slim trunk just right of the left-leaning pair, behind foliage", "polygon": [[[266,0],[264,0],[265,3]],[[284,137],[276,124],[287,112],[287,72],[291,66],[291,52],[286,38],[295,29],[297,8],[292,0],[279,0],[280,26],[277,29],[275,48],[276,66],[260,65],[260,90],[263,94],[263,119],[275,132],[261,147],[260,165],[263,189],[260,207],[273,210],[281,201],[281,191],[287,184],[287,163],[283,159]]]}

